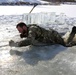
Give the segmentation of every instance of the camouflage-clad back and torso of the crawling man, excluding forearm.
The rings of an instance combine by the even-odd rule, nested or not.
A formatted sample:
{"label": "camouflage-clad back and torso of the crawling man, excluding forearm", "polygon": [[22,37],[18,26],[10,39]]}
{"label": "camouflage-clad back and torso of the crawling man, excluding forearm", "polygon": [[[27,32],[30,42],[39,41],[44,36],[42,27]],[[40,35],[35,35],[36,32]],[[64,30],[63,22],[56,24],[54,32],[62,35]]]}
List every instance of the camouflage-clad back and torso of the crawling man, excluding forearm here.
{"label": "camouflage-clad back and torso of the crawling man, excluding forearm", "polygon": [[45,28],[42,28],[36,24],[32,24],[28,26],[28,37],[30,37],[30,32],[32,32],[32,35],[33,37],[35,37],[35,40],[41,43],[64,44],[61,35],[53,29],[46,30]]}

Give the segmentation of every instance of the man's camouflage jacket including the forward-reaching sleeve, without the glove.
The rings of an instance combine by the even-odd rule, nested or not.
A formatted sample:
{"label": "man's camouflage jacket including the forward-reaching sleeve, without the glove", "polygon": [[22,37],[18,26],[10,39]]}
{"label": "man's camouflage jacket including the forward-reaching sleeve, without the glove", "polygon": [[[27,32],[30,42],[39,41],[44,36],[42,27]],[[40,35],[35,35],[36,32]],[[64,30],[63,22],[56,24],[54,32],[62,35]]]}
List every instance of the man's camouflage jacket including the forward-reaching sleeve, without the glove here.
{"label": "man's camouflage jacket including the forward-reaching sleeve, without the glove", "polygon": [[28,26],[28,36],[19,42],[19,46],[38,45],[38,44],[63,44],[60,34],[53,30],[46,30],[36,24]]}

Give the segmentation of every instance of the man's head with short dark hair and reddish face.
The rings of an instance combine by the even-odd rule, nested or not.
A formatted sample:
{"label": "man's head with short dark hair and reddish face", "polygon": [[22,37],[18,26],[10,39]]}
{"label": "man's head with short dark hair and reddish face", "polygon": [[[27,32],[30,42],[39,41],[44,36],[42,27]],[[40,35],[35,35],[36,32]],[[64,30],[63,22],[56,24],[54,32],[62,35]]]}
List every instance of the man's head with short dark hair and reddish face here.
{"label": "man's head with short dark hair and reddish face", "polygon": [[18,23],[16,28],[21,34],[27,33],[27,25],[24,22]]}

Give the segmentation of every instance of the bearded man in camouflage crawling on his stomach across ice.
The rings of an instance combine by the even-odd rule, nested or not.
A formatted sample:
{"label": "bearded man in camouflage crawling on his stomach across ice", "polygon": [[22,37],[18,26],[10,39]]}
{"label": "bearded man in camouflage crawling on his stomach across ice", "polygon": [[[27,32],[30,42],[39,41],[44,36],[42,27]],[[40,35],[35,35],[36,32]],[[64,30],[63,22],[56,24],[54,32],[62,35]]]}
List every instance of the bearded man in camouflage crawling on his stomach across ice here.
{"label": "bearded man in camouflage crawling on his stomach across ice", "polygon": [[60,44],[65,47],[71,47],[76,45],[76,41],[73,40],[76,33],[75,26],[72,28],[72,31],[66,41],[57,31],[53,29],[46,30],[40,26],[37,26],[36,24],[27,26],[24,22],[20,22],[17,24],[16,28],[21,33],[20,37],[26,39],[20,42],[14,42],[13,40],[10,40],[10,46],[22,47],[28,45],[38,46],[43,44]]}

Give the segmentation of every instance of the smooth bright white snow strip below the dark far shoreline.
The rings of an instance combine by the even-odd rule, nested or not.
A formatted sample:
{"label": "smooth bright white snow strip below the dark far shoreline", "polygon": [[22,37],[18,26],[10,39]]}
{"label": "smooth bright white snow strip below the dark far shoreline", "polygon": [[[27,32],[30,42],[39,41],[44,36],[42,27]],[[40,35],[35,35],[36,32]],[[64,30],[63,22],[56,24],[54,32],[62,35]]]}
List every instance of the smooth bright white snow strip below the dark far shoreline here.
{"label": "smooth bright white snow strip below the dark far shoreline", "polygon": [[[24,13],[29,13],[32,8],[33,6],[0,6],[0,15],[20,15]],[[60,13],[65,13],[65,15],[67,15],[68,17],[76,17],[75,11],[76,5],[38,5],[37,7],[35,7],[32,13],[56,12],[58,15]]]}

